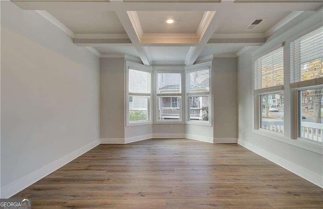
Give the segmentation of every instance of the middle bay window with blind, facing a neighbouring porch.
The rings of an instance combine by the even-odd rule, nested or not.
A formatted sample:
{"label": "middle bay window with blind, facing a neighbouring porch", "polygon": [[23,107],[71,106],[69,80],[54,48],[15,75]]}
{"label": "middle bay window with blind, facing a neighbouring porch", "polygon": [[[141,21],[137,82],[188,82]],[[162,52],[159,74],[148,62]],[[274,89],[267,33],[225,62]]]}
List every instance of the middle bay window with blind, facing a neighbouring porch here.
{"label": "middle bay window with blind, facing a neighbouring porch", "polygon": [[157,121],[182,120],[182,74],[156,73]]}

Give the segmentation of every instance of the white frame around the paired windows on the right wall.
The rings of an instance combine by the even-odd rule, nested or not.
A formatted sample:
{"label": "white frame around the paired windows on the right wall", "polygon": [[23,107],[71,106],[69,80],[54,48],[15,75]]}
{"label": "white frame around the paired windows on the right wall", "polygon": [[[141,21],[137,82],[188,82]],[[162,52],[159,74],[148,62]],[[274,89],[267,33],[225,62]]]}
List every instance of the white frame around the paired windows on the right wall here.
{"label": "white frame around the paired windows on the right wall", "polygon": [[[274,131],[266,131],[258,129],[258,103],[259,99],[256,94],[251,94],[251,99],[254,103],[252,106],[252,126],[251,132],[271,138],[272,140],[276,140],[279,142],[283,142],[301,149],[305,149],[314,153],[318,153],[320,155],[323,154],[323,143],[315,142],[311,140],[307,140],[304,138],[299,138],[298,136],[298,124],[299,124],[299,113],[298,113],[298,89],[302,89],[301,87],[290,87],[290,77],[291,77],[291,58],[290,58],[290,42],[294,41],[318,28],[322,27],[322,23],[317,23],[312,25],[311,27],[307,27],[307,29],[300,31],[296,35],[290,36],[289,38],[284,39],[283,37],[279,37],[278,39],[271,40],[266,44],[262,45],[258,49],[255,49],[251,52],[251,67],[252,67],[252,82],[250,88],[254,91],[254,61],[256,57],[259,57],[268,51],[272,50],[272,45],[276,47],[279,45],[283,45],[284,47],[284,135],[276,134]],[[315,87],[317,88],[317,86]],[[286,111],[287,110],[287,111]]]}

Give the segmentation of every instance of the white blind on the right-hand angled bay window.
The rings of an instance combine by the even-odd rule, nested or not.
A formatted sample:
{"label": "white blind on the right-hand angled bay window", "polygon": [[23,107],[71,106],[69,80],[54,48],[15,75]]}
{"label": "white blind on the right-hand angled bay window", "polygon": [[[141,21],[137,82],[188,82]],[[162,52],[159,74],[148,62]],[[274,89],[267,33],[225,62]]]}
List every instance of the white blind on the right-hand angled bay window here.
{"label": "white blind on the right-hand angled bay window", "polygon": [[209,92],[209,69],[202,69],[187,74],[187,93]]}

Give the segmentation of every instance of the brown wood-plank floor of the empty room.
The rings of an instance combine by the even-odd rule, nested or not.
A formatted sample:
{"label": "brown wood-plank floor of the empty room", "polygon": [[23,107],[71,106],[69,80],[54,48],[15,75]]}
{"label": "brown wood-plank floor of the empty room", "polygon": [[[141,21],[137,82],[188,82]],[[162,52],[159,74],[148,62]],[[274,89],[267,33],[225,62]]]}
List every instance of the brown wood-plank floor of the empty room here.
{"label": "brown wood-plank floor of the empty room", "polygon": [[33,208],[323,208],[323,189],[237,144],[99,145],[16,194]]}

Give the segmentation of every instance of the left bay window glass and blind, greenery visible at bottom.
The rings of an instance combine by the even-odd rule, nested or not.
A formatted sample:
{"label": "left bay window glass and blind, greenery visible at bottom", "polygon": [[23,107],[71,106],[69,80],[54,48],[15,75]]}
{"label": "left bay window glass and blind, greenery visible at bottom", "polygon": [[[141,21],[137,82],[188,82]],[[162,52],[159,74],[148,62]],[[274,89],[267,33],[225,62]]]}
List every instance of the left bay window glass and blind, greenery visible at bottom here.
{"label": "left bay window glass and blind, greenery visible at bottom", "polygon": [[128,71],[128,120],[127,124],[150,121],[151,73],[129,69]]}

